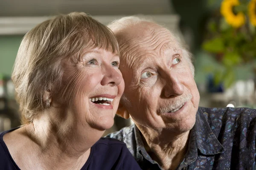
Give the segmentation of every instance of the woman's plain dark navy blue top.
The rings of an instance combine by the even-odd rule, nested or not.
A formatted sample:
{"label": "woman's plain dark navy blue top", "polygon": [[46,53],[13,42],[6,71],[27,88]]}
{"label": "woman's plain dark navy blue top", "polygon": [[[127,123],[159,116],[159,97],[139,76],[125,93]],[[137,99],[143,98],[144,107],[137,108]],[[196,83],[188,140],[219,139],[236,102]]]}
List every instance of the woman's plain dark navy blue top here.
{"label": "woman's plain dark navy blue top", "polygon": [[[16,129],[0,133],[0,170],[20,170],[3,141],[5,133]],[[91,147],[90,156],[81,170],[140,170],[140,167],[125,143],[101,138]]]}

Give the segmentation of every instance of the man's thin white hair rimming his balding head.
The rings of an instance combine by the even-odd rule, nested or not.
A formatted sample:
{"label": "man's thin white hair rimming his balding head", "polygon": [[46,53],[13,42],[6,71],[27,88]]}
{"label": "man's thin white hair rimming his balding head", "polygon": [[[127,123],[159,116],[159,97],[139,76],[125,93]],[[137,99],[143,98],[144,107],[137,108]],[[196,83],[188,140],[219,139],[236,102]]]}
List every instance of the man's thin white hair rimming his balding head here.
{"label": "man's thin white hair rimming his balding head", "polygon": [[[108,24],[108,28],[110,28],[113,31],[113,33],[115,34],[116,32],[118,32],[118,31],[120,31],[122,29],[128,28],[130,26],[134,26],[134,25],[140,25],[143,22],[155,23],[155,24],[157,24],[160,27],[166,28],[165,26],[160,25],[160,24],[156,23],[155,21],[153,21],[151,19],[146,19],[143,16],[128,16],[128,17],[119,18],[117,20],[112,21],[110,24]],[[166,29],[170,32],[172,37],[177,41],[178,45],[182,49],[183,55],[186,56],[186,58],[189,61],[189,68],[190,68],[190,70],[192,72],[192,75],[195,76],[195,67],[194,67],[194,65],[192,63],[192,60],[193,60],[192,54],[186,48],[186,45],[184,45],[182,42],[180,42],[180,39],[177,38],[172,33],[172,31],[170,31],[168,28],[166,28]],[[129,105],[129,103],[130,103],[129,99],[124,94],[122,96],[121,102],[124,105]]]}

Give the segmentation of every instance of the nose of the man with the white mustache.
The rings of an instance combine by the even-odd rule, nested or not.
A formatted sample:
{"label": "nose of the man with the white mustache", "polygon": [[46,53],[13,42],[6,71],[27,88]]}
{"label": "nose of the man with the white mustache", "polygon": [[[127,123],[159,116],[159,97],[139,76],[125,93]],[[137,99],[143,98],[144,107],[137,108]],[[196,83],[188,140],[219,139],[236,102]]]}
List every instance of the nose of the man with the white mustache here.
{"label": "nose of the man with the white mustache", "polygon": [[178,74],[175,72],[169,73],[166,76],[165,79],[165,87],[164,87],[164,96],[169,97],[175,97],[180,96],[184,93],[184,86],[180,82],[180,79],[178,77]]}

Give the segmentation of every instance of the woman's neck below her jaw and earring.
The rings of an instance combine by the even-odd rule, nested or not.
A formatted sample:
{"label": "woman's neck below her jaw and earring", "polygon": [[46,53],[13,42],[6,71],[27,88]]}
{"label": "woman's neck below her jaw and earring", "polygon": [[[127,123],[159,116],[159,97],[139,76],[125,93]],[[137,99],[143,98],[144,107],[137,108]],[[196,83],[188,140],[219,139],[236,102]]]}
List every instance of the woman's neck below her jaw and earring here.
{"label": "woman's neck below her jaw and earring", "polygon": [[72,157],[84,154],[104,133],[89,125],[81,124],[72,113],[38,114],[33,123],[27,127],[29,136],[43,150],[52,147],[56,152]]}

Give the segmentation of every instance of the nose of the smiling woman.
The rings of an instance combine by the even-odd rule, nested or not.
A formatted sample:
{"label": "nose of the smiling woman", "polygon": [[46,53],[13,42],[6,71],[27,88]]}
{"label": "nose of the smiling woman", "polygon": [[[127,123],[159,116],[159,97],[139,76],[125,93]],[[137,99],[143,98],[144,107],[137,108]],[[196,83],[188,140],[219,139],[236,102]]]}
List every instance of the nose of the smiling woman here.
{"label": "nose of the smiling woman", "polygon": [[111,65],[104,67],[103,74],[104,77],[101,81],[101,85],[117,86],[122,82],[122,75]]}

